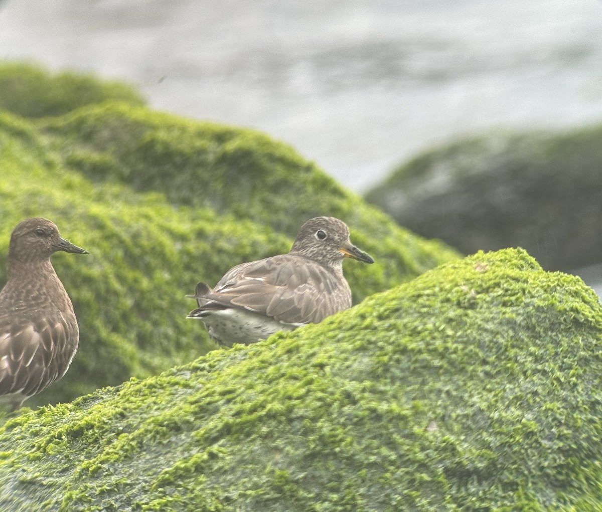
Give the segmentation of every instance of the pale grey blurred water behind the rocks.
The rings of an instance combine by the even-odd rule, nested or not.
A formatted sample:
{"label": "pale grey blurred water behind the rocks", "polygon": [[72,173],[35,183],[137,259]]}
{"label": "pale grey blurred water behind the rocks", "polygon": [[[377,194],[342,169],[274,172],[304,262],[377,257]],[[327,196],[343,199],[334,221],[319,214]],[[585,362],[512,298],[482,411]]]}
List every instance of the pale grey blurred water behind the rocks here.
{"label": "pale grey blurred water behind the rocks", "polygon": [[602,119],[599,0],[4,0],[0,58],[258,128],[359,192],[463,134]]}

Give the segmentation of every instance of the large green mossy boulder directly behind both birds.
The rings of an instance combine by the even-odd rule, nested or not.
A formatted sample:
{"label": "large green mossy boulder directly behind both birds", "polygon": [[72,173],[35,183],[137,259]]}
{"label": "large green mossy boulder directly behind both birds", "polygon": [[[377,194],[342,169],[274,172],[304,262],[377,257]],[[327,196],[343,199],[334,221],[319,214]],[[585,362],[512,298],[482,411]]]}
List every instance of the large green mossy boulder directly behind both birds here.
{"label": "large green mossy boulder directly behind both birds", "polygon": [[[36,76],[40,87],[56,87],[56,77]],[[4,108],[13,111],[0,110],[0,286],[10,232],[25,217],[51,218],[90,251],[53,258],[81,341],[67,375],[30,407],[148,377],[215,348],[199,322],[185,319],[194,301],[184,295],[235,264],[287,251],[312,215],[346,220],[376,258],[345,265],[356,303],[457,257],[262,134],[111,102],[108,93],[101,103],[81,106],[76,97],[69,105],[70,90],[54,91],[63,91],[67,114],[28,120],[14,113],[26,108],[8,102],[0,81]]]}

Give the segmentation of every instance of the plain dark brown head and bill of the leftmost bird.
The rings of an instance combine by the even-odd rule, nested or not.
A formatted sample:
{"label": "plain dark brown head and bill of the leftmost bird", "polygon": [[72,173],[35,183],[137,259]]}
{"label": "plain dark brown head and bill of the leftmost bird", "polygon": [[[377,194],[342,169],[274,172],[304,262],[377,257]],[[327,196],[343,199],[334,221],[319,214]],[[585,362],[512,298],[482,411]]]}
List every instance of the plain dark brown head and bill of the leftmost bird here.
{"label": "plain dark brown head and bill of the leftmost bird", "polygon": [[56,224],[43,217],[21,221],[10,235],[9,261],[45,261],[56,251],[88,254],[87,250],[64,239]]}

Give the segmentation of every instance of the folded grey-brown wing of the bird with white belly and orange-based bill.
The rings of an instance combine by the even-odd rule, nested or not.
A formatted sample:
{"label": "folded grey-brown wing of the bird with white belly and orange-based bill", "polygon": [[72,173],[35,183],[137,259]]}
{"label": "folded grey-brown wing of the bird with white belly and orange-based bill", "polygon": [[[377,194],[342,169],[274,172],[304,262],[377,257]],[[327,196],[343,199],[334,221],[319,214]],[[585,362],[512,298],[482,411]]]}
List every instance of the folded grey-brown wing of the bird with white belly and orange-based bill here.
{"label": "folded grey-brown wing of the bird with white belly and orange-based bill", "polygon": [[199,283],[196,297],[195,312],[239,307],[287,324],[317,323],[351,305],[329,270],[288,254],[238,265],[214,289]]}

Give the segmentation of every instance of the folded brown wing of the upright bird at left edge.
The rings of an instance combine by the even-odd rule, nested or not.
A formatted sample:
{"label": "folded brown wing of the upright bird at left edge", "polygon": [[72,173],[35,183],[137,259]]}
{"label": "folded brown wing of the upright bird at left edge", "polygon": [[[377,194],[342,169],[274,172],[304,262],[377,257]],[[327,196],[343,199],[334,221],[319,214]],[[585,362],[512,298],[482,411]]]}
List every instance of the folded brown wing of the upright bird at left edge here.
{"label": "folded brown wing of the upright bird at left edge", "polygon": [[60,312],[35,320],[0,316],[0,395],[35,395],[62,377],[77,350],[77,329]]}

